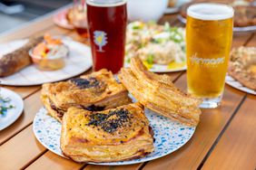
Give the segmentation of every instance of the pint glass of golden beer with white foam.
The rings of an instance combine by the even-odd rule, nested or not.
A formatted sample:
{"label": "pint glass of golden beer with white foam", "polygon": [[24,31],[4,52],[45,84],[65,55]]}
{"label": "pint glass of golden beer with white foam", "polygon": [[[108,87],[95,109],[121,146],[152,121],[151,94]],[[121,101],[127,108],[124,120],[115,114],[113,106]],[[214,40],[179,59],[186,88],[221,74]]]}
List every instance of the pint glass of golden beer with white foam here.
{"label": "pint glass of golden beer with white foam", "polygon": [[197,4],[187,10],[188,92],[203,99],[201,108],[220,105],[231,51],[233,9]]}

